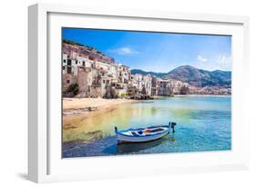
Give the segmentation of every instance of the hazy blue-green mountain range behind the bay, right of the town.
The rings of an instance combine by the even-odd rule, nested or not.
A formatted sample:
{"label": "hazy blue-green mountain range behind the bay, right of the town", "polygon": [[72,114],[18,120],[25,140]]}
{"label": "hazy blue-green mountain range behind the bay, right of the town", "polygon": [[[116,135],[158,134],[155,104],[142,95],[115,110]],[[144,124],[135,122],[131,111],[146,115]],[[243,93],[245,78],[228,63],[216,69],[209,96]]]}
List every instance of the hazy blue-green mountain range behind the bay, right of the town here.
{"label": "hazy blue-green mountain range behind the bay, right of the town", "polygon": [[207,71],[195,68],[190,65],[181,65],[169,73],[145,72],[132,70],[131,74],[151,74],[163,79],[176,79],[194,86],[226,86],[231,85],[231,72],[228,71]]}

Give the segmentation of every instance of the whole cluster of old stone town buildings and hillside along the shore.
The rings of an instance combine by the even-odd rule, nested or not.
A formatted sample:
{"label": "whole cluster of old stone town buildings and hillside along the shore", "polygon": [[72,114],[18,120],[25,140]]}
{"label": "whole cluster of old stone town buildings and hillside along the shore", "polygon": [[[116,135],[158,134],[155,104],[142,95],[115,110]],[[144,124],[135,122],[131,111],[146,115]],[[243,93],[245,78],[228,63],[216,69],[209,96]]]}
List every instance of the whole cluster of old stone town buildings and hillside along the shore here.
{"label": "whole cluster of old stone town buildings and hillside along the shore", "polygon": [[[69,94],[70,86],[77,86],[76,97],[108,97],[113,93],[171,95],[180,94],[180,89],[188,84],[160,79],[150,74],[131,74],[130,68],[118,64],[96,49],[64,41],[63,43],[63,93]],[[74,86],[76,85],[76,86]],[[112,94],[109,94],[111,91]]]}

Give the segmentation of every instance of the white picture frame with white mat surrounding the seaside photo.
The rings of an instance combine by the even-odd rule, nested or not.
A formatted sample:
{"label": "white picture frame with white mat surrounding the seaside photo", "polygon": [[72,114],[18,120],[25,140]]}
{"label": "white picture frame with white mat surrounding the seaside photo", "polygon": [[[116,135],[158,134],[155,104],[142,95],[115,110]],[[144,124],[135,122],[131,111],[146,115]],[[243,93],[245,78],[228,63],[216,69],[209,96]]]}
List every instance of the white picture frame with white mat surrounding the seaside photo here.
{"label": "white picture frame with white mat surrounding the seaside photo", "polygon": [[[91,20],[90,20],[91,19]],[[57,63],[61,53],[59,28],[79,26],[143,30],[139,22],[148,22],[150,30],[177,33],[231,34],[232,45],[232,150],[210,153],[168,153],[61,159],[58,100],[60,84]],[[87,23],[84,21],[87,20]],[[126,25],[121,23],[126,22]],[[104,24],[105,23],[105,24]],[[149,27],[150,23],[159,25]],[[175,26],[169,27],[169,24]],[[79,5],[36,4],[28,8],[28,178],[33,182],[62,182],[123,176],[217,172],[249,168],[249,121],[243,100],[249,71],[249,19],[234,15],[201,15],[169,12],[105,9]],[[191,26],[192,25],[192,26]],[[57,36],[59,34],[59,36]],[[54,37],[53,37],[54,36]],[[53,39],[54,38],[54,39]],[[55,53],[56,52],[56,53]],[[59,61],[60,62],[60,61]],[[53,125],[55,124],[55,125]],[[242,128],[241,128],[242,126]],[[55,137],[55,138],[53,138]],[[147,165],[147,162],[153,164]],[[160,164],[154,164],[154,161]],[[120,167],[120,163],[124,167]],[[133,170],[132,164],[142,167]],[[76,171],[75,171],[76,169]]]}

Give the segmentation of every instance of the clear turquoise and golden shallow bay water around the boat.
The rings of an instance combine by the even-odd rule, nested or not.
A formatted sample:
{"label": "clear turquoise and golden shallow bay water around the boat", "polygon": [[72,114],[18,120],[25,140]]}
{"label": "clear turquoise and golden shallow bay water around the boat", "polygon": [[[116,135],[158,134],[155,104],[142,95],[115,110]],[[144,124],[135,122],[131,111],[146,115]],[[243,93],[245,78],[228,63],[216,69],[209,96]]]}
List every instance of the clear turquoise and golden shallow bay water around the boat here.
{"label": "clear turquoise and golden shallow bay water around the boat", "polygon": [[[175,96],[126,103],[108,113],[69,117],[63,157],[138,153],[182,153],[231,149],[230,96]],[[117,145],[114,127],[125,130],[176,122],[175,134],[150,143]]]}

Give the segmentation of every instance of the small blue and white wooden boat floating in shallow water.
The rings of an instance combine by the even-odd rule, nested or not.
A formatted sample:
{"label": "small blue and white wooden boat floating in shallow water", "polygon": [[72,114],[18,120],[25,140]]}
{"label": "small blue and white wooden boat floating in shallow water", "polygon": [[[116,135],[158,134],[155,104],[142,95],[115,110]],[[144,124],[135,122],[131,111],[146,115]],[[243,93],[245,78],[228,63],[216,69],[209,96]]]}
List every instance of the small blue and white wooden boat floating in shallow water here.
{"label": "small blue and white wooden boat floating in shallow water", "polygon": [[124,131],[118,131],[118,127],[115,127],[115,132],[118,143],[146,143],[166,136],[170,129],[174,133],[175,125],[176,123],[169,123],[169,125],[154,125]]}

